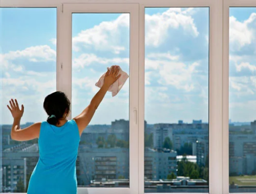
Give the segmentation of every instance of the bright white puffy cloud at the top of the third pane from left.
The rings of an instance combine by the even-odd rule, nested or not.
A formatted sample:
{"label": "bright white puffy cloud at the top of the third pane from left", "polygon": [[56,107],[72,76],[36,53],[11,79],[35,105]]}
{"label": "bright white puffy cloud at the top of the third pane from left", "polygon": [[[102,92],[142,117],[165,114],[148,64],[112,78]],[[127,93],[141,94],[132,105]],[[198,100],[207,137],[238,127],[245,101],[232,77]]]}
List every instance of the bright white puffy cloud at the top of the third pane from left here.
{"label": "bright white puffy cloud at the top of the third pane from left", "polygon": [[170,8],[161,14],[145,15],[145,44],[159,46],[168,36],[168,29],[183,28],[189,35],[197,37],[199,32],[189,11]]}

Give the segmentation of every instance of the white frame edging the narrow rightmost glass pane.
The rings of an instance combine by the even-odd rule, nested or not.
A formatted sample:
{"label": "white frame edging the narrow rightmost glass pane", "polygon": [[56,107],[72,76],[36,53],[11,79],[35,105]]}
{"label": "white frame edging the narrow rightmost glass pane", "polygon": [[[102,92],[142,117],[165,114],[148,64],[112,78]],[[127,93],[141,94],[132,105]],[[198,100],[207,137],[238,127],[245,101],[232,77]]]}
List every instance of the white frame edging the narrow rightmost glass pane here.
{"label": "white frame edging the narrow rightmost glass pane", "polygon": [[[223,0],[223,193],[229,193],[229,8],[256,7],[254,0]],[[236,193],[245,194],[245,193]],[[256,194],[250,192],[250,194]]]}

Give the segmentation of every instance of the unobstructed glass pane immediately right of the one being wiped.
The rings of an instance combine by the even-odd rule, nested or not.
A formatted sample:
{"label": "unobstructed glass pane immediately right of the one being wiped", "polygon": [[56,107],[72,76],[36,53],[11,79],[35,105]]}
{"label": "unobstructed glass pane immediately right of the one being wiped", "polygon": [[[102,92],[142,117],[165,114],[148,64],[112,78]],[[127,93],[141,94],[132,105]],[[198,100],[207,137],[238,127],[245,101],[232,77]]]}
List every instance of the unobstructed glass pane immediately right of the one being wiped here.
{"label": "unobstructed glass pane immediately right of the one being wiped", "polygon": [[145,9],[145,192],[209,192],[209,8]]}

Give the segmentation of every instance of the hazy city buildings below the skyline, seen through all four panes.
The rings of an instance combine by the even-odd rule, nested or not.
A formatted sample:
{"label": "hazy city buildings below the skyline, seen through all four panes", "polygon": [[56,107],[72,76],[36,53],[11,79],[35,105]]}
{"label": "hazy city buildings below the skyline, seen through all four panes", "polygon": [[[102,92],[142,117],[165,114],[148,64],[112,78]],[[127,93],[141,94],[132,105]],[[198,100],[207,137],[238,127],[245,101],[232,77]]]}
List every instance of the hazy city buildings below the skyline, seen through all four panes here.
{"label": "hazy city buildings below the skyline, seen through all four panes", "polygon": [[[31,124],[26,123],[21,127]],[[178,162],[186,154],[187,161],[199,167],[208,165],[208,124],[202,120],[193,120],[190,124],[182,120],[175,124],[150,125],[146,121],[144,124],[147,136],[145,189],[148,187],[148,192],[160,192],[172,185],[197,185],[198,192],[207,192],[207,180],[195,182],[190,177],[181,177]],[[246,124],[241,127],[230,120],[230,175],[256,174],[256,120]],[[26,188],[39,157],[37,141],[11,140],[11,125],[2,125],[0,130],[0,192],[13,192],[20,184]],[[129,120],[115,120],[111,125],[89,125],[82,133],[80,143],[76,161],[78,185],[129,187]],[[170,175],[174,177],[167,179]]]}

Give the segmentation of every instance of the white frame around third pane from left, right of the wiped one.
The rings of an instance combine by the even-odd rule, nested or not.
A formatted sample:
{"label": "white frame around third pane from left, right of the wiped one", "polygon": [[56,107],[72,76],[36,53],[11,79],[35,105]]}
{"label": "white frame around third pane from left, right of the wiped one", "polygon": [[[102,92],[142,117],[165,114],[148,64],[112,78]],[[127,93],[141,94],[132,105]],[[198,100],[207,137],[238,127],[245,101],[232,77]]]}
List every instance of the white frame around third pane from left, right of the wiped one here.
{"label": "white frame around third pane from left, right of the wiped one", "polygon": [[[223,193],[222,175],[222,0],[147,1],[140,5],[139,129],[144,129],[145,7],[209,7],[209,193]],[[221,10],[221,11],[220,11]],[[139,130],[139,193],[144,193],[144,131]],[[142,143],[143,142],[143,143]]]}

